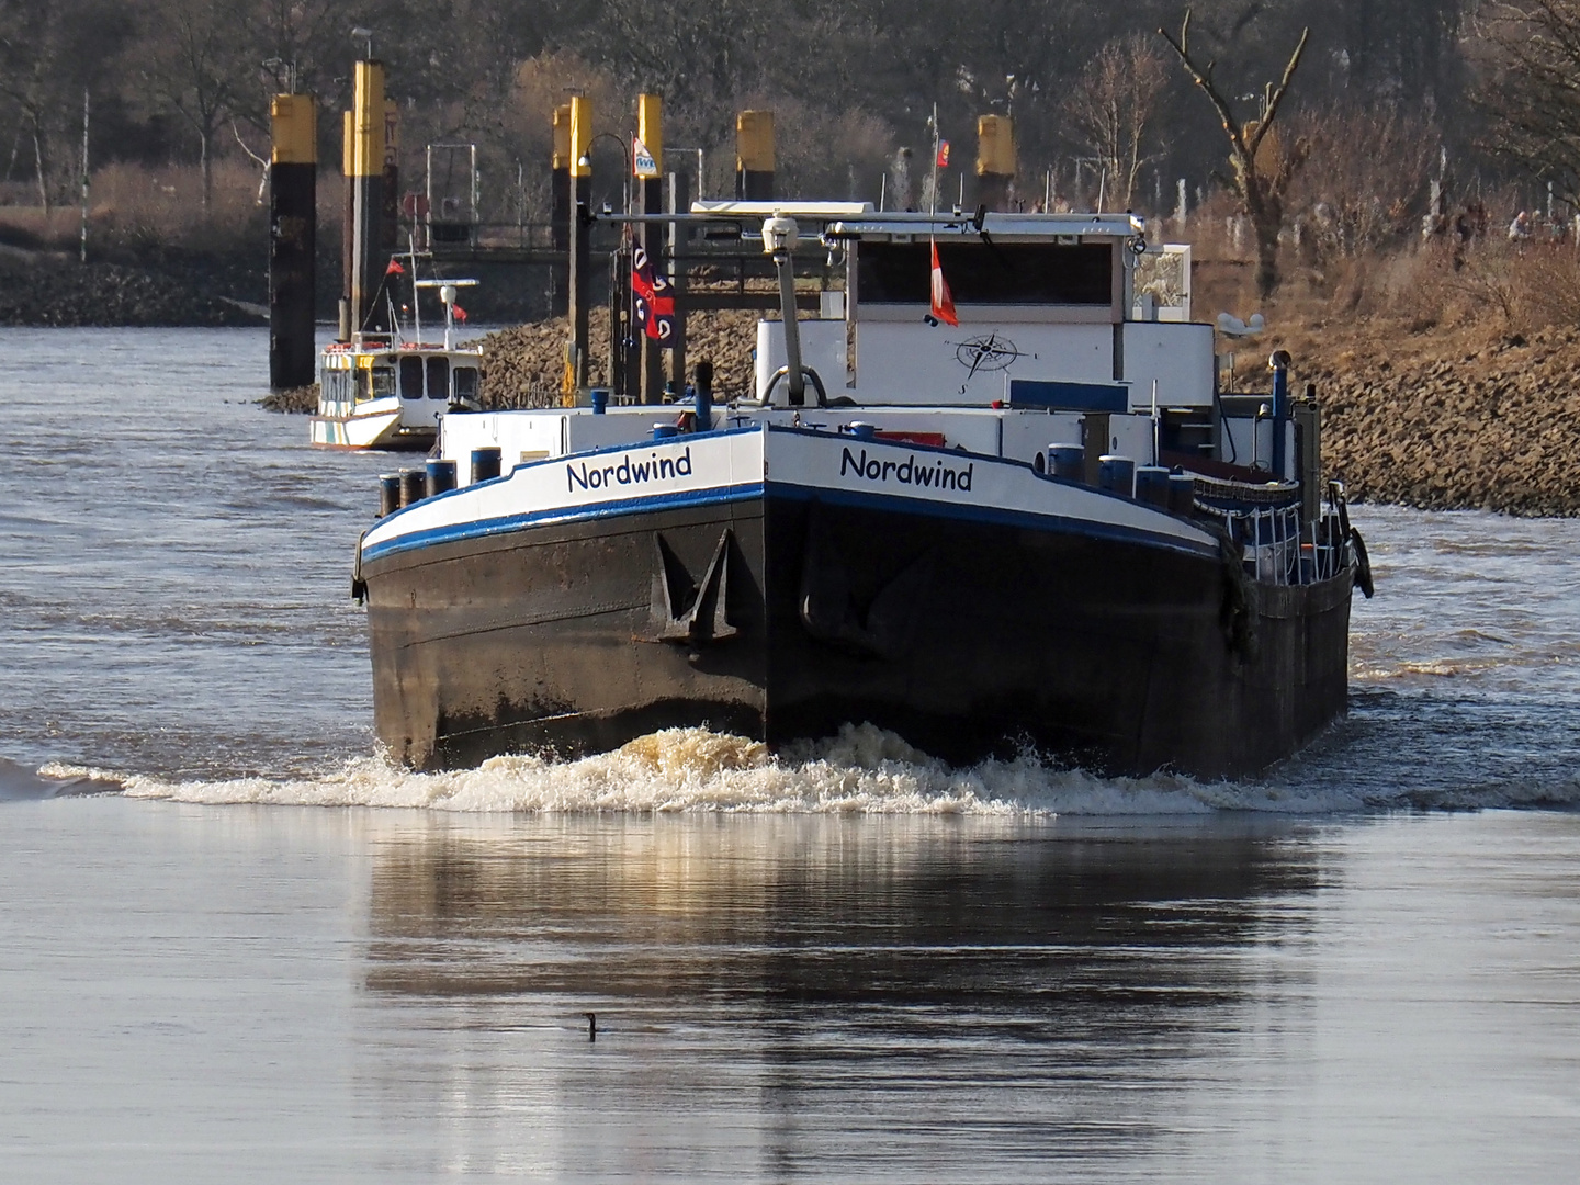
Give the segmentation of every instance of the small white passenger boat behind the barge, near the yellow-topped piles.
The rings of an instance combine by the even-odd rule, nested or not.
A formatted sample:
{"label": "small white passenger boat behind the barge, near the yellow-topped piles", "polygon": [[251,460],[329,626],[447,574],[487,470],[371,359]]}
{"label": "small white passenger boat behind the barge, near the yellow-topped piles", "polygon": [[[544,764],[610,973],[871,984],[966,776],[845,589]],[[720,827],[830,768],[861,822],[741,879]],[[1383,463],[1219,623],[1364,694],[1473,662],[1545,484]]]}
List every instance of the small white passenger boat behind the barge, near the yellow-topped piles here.
{"label": "small white passenger boat behind the barge, near the yellow-topped piles", "polygon": [[[414,256],[404,258],[414,261]],[[476,411],[480,406],[482,349],[455,344],[453,340],[458,289],[476,283],[414,280],[411,340],[404,338],[390,308],[389,324],[393,329],[389,333],[354,333],[351,341],[325,346],[319,362],[311,442],[325,449],[427,452],[438,439],[439,420],[447,411]],[[438,291],[444,305],[444,340],[438,343],[422,340],[417,300],[427,289]]]}

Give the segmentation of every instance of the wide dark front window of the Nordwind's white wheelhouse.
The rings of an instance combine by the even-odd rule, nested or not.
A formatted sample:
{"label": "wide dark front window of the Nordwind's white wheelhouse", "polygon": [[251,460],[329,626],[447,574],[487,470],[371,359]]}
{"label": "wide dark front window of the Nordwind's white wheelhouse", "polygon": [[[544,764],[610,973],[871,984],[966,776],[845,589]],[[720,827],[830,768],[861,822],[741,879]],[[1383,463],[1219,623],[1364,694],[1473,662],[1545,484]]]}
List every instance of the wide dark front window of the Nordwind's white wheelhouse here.
{"label": "wide dark front window of the Nordwind's white wheelhouse", "polygon": [[[1114,302],[1108,243],[939,243],[956,305],[1103,305]],[[856,253],[863,305],[926,305],[932,256],[926,242],[867,243]]]}

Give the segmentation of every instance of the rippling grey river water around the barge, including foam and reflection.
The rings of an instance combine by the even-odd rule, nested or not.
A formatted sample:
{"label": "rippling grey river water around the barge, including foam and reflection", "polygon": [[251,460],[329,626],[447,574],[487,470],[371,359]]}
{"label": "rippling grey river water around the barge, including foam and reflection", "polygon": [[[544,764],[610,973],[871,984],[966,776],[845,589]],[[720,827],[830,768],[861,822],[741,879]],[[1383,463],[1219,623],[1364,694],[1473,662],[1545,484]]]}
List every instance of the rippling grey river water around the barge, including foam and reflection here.
{"label": "rippling grey river water around the barge, including foam and reflection", "polygon": [[1243,784],[416,776],[389,458],[264,351],[0,330],[0,1180],[1574,1179],[1580,523],[1359,507],[1351,714]]}

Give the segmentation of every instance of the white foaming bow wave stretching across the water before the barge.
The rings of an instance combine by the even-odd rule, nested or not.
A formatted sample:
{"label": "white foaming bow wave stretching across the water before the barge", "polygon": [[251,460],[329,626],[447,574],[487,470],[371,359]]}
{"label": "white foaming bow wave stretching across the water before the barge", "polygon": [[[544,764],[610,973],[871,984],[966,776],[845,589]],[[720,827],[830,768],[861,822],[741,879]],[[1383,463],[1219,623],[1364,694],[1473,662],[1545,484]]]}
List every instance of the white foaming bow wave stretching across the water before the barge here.
{"label": "white foaming bow wave stretching across the water before the barge", "polygon": [[[1097,777],[1025,754],[957,769],[872,725],[771,754],[743,736],[670,728],[578,762],[495,757],[476,769],[419,774],[376,757],[295,777],[172,781],[46,765],[43,777],[118,782],[130,798],[205,804],[420,807],[551,814],[888,814],[888,815],[1191,815],[1215,811],[1335,814],[1408,806],[1465,809],[1580,801],[1564,787],[1335,787],[1201,782],[1180,774]],[[1441,801],[1439,801],[1441,799]]]}

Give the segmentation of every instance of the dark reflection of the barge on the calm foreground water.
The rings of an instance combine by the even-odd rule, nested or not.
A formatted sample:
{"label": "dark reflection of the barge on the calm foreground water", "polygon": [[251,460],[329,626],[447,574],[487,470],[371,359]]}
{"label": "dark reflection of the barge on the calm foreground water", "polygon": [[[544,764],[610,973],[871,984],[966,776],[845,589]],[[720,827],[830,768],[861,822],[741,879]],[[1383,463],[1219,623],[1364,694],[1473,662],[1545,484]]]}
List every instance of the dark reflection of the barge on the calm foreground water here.
{"label": "dark reflection of the barge on the calm foreground water", "polygon": [[381,1093],[588,1179],[1146,1160],[1319,883],[1239,820],[419,825],[374,848],[363,983],[450,1076]]}

